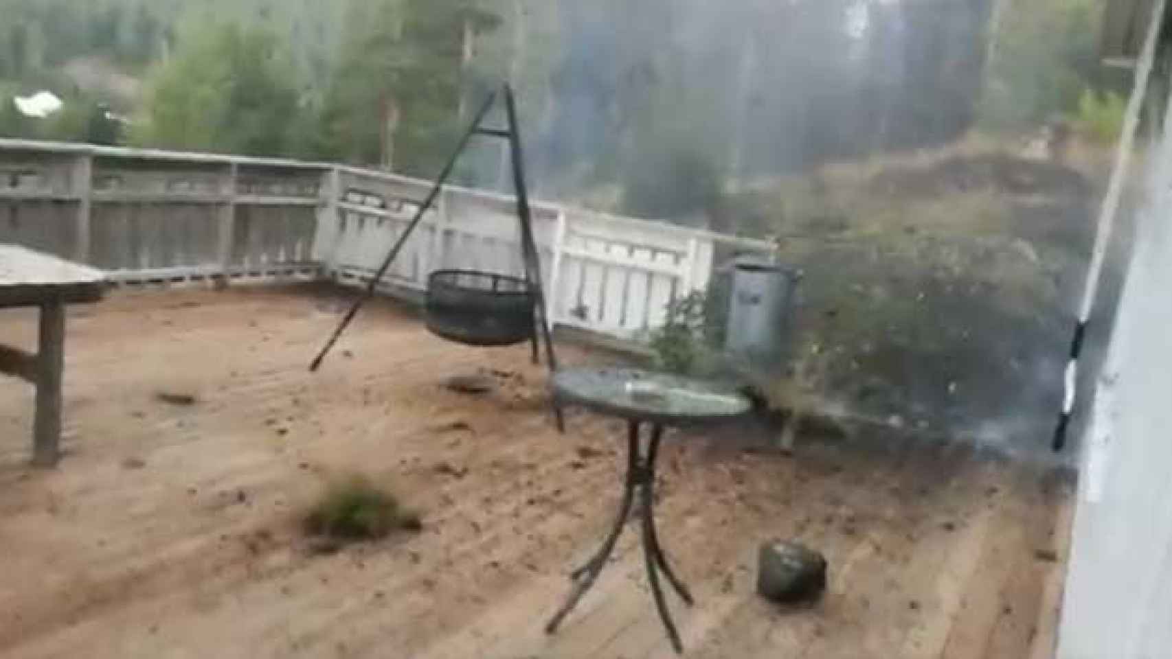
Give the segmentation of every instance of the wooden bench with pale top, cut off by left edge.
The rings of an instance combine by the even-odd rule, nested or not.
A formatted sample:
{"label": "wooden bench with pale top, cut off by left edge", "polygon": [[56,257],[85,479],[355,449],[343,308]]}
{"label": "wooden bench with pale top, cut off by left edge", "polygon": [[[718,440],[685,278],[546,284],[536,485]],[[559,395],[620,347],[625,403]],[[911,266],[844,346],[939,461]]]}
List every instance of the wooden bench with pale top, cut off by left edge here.
{"label": "wooden bench with pale top, cut off by left edge", "polygon": [[105,287],[105,274],[101,270],[16,245],[0,243],[0,308],[41,309],[35,355],[0,344],[0,372],[23,378],[36,386],[34,465],[56,465],[60,455],[66,304],[97,302]]}

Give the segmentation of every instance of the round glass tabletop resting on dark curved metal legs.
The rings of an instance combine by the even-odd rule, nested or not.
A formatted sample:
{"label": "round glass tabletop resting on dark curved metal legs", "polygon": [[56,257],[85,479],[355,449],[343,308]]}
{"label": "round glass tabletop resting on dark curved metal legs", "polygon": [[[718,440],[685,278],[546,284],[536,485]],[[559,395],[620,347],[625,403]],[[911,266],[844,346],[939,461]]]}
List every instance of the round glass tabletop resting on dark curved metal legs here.
{"label": "round glass tabletop resting on dark curved metal legs", "polygon": [[552,386],[559,403],[665,425],[728,420],[750,407],[732,386],[640,369],[566,369]]}

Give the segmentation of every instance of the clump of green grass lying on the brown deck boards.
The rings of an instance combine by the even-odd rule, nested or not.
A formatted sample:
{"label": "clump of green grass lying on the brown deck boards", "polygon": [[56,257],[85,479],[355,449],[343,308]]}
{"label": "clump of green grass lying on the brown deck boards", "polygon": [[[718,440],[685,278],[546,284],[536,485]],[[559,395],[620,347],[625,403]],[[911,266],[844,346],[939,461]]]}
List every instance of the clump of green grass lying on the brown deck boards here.
{"label": "clump of green grass lying on the brown deck boards", "polygon": [[375,540],[423,526],[417,512],[404,508],[394,494],[362,474],[326,486],[302,523],[307,534],[336,541]]}

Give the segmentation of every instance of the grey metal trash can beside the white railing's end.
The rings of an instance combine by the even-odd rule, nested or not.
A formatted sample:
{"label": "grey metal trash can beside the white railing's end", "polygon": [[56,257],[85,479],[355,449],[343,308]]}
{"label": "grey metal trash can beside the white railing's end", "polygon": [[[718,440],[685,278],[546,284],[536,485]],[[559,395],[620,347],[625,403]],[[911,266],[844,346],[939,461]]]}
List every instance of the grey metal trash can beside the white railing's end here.
{"label": "grey metal trash can beside the white railing's end", "polygon": [[737,259],[732,269],[724,349],[758,364],[777,364],[790,342],[798,275],[762,259]]}

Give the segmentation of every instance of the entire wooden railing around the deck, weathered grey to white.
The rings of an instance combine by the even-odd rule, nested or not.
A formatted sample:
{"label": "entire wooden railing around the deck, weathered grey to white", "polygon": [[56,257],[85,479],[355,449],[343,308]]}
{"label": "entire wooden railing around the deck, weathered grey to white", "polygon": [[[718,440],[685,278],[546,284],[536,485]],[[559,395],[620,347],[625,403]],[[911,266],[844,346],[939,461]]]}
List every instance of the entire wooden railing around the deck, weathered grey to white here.
{"label": "entire wooden railing around the deck, weathered grey to white", "polygon": [[[127,286],[328,277],[366,284],[430,181],[295,160],[0,139],[0,241]],[[438,268],[520,274],[512,195],[447,186],[380,282],[417,295]],[[766,242],[533,204],[554,324],[631,337],[703,290],[723,245]]]}

